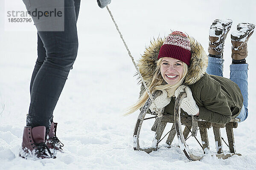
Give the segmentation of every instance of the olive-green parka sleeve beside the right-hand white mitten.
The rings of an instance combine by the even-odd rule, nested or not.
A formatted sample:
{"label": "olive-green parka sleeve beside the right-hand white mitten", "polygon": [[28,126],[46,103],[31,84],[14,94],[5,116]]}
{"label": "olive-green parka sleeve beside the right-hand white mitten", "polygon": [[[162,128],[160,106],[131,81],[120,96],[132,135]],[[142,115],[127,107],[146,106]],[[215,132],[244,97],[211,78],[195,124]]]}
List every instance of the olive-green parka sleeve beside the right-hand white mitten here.
{"label": "olive-green parka sleeve beside the right-hand white mitten", "polygon": [[204,105],[204,107],[198,106],[198,118],[212,123],[230,122],[232,112],[219,82],[214,79],[204,82],[203,85],[198,85],[198,92]]}

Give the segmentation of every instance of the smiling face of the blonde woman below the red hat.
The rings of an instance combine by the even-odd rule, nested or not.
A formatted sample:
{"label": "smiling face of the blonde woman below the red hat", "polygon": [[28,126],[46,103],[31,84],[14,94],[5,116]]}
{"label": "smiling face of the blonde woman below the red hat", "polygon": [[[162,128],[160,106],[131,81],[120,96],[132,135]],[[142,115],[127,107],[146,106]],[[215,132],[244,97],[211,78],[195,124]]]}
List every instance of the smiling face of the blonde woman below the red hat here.
{"label": "smiling face of the blonde woman below the red hat", "polygon": [[183,62],[175,58],[163,57],[160,71],[167,84],[174,85],[182,77]]}

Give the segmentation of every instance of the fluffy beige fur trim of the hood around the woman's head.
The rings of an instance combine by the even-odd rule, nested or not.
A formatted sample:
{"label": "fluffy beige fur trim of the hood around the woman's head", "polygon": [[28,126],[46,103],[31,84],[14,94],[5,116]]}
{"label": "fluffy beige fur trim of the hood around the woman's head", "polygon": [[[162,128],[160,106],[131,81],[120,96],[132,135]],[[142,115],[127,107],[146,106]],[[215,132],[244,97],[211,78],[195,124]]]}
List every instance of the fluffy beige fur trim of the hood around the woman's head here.
{"label": "fluffy beige fur trim of the hood around the woman's head", "polygon": [[[192,85],[204,76],[208,57],[204,48],[193,37],[189,37],[191,47],[191,60],[188,73],[184,79],[184,85]],[[164,39],[158,38],[151,41],[151,44],[146,48],[144,55],[138,62],[140,73],[147,85],[150,85],[154,70],[157,68],[157,57],[160,47],[163,45]]]}

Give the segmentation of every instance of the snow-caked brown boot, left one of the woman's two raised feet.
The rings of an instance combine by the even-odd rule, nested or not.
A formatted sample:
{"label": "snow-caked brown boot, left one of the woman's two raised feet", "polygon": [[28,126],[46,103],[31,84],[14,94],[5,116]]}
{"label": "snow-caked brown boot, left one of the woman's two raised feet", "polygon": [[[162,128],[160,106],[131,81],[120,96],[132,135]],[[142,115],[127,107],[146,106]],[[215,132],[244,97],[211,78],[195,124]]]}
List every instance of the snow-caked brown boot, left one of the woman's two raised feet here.
{"label": "snow-caked brown boot, left one of the woman's two raised feet", "polygon": [[209,29],[208,52],[212,55],[222,55],[224,41],[232,26],[232,20],[214,20]]}

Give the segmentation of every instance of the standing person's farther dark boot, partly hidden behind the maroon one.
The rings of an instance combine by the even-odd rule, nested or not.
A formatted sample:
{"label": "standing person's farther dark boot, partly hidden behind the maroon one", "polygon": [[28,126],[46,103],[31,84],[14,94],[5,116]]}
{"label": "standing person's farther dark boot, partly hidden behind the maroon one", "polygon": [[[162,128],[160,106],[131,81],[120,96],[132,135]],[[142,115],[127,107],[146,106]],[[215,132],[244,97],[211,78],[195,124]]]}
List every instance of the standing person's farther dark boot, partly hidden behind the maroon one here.
{"label": "standing person's farther dark boot, partly hidden behind the maroon one", "polygon": [[53,152],[58,150],[61,153],[63,153],[63,150],[61,147],[63,147],[64,144],[62,144],[61,141],[56,136],[57,125],[58,123],[52,122],[49,133],[47,135],[46,144],[47,144],[47,147],[49,147],[49,149],[53,149]]}

